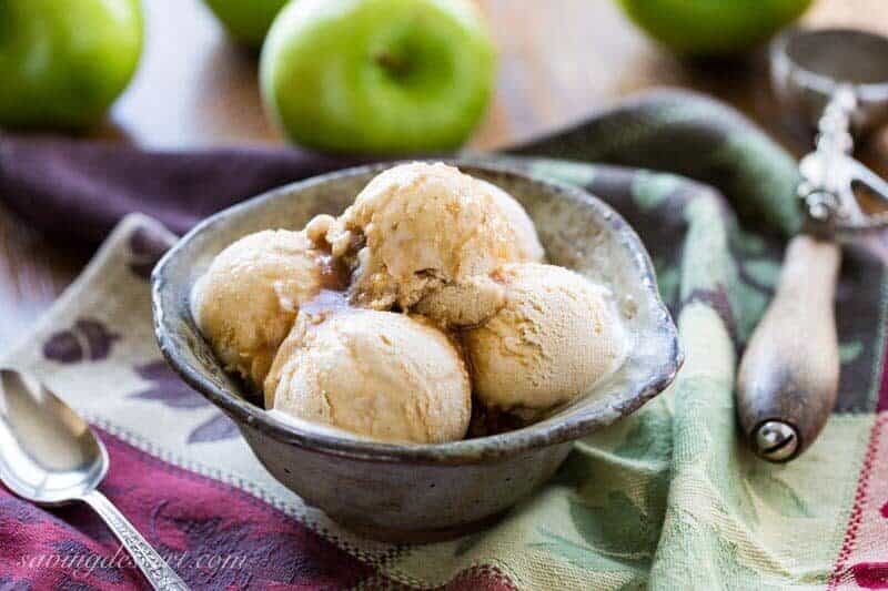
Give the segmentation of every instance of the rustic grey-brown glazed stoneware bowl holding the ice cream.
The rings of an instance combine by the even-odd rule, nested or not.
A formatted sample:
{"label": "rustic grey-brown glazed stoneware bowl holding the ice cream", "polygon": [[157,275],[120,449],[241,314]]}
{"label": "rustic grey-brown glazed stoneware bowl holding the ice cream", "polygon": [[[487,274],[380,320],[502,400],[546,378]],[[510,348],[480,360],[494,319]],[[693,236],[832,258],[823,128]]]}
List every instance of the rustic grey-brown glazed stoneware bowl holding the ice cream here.
{"label": "rustic grey-brown glazed stoneware bowl holding the ice cream", "polygon": [[581,188],[507,169],[453,164],[500,185],[526,207],[551,263],[618,294],[632,338],[632,353],[613,376],[529,427],[438,445],[383,444],[302,428],[252,404],[195,327],[191,286],[220,251],[252,232],[299,230],[315,214],[341,213],[391,164],[317,176],[225,210],[182,238],[152,276],[154,328],[173,369],[236,422],[278,480],[345,527],[377,539],[443,539],[490,522],[545,482],[575,439],[633,412],[669,385],[682,364],[648,255],[609,206]]}

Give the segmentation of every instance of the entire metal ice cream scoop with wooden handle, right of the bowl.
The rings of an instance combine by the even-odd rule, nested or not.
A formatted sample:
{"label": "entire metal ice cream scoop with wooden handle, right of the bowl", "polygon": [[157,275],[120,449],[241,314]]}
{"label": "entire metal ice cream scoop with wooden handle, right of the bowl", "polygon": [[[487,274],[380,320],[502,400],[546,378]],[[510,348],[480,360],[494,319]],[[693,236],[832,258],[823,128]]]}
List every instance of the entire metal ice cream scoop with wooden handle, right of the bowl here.
{"label": "entire metal ice cream scoop with wooden handle, right of the bowl", "polygon": [[855,190],[888,202],[888,183],[851,156],[851,134],[888,120],[888,39],[857,30],[794,30],[770,49],[783,104],[817,122],[817,147],[799,165],[803,233],[786,252],[777,293],[740,360],[737,414],[753,449],[788,461],[816,439],[839,384],[835,291],[838,241],[879,228]]}

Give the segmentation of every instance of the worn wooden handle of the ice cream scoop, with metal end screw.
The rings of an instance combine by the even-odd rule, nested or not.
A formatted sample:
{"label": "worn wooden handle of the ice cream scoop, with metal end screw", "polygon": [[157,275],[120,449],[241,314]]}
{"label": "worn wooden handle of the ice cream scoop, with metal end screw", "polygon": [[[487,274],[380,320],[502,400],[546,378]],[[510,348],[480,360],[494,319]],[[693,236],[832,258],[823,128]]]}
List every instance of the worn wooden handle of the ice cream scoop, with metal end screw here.
{"label": "worn wooden handle of the ice cream scoop, with metal end screw", "polygon": [[789,243],[777,294],[753,333],[737,378],[737,415],[753,449],[788,461],[824,428],[839,383],[834,312],[839,246]]}

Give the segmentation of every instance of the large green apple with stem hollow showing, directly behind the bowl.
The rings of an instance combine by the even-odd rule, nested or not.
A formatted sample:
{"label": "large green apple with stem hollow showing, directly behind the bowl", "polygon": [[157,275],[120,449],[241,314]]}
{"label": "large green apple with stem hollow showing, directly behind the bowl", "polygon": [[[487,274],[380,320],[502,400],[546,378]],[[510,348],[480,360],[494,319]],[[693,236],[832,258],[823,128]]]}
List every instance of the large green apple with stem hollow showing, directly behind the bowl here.
{"label": "large green apple with stem hollow showing, directly behind the bowl", "polygon": [[270,115],[299,144],[434,152],[481,122],[495,62],[471,0],[295,0],[269,31],[260,81]]}

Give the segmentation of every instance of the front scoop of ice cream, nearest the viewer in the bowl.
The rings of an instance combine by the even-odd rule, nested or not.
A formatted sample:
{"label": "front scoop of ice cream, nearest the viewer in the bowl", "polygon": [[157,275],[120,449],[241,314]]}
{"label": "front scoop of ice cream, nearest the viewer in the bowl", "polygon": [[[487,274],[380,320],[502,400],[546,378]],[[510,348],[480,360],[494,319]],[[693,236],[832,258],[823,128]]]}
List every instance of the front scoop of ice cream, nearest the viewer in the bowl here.
{"label": "front scoop of ice cream, nearest the viewer in the bowl", "polygon": [[404,314],[299,315],[265,380],[268,408],[384,441],[462,439],[465,364],[447,336]]}

